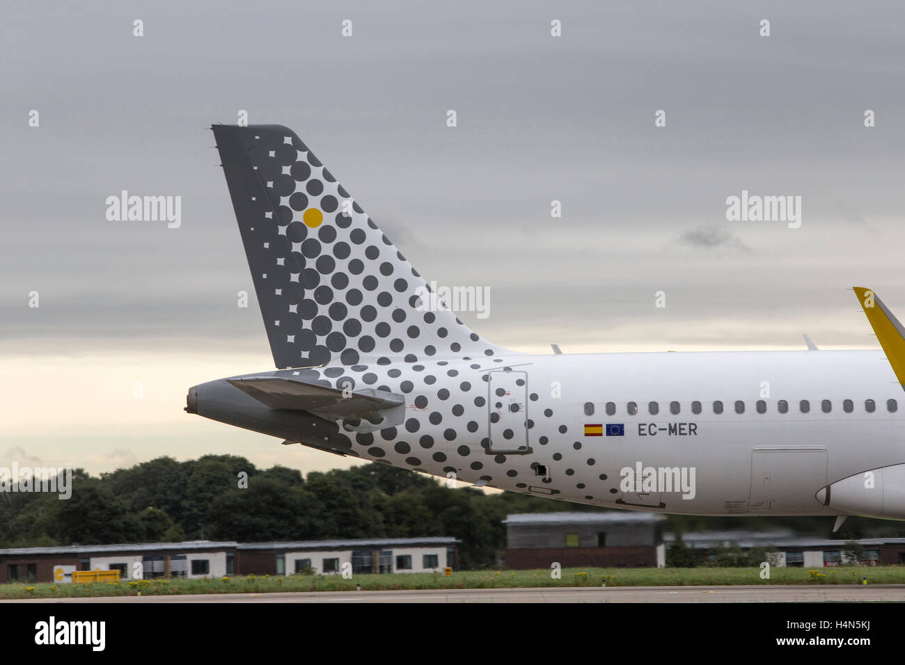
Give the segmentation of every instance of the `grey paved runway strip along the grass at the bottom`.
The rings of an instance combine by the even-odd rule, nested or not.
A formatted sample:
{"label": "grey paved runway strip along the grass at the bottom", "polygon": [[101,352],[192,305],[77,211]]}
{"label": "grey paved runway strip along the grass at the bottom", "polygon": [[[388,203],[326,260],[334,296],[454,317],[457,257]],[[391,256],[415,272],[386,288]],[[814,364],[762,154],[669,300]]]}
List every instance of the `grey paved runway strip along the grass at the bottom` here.
{"label": "grey paved runway strip along the grass at the bottom", "polygon": [[146,595],[7,603],[820,603],[905,602],[905,585],[623,586],[424,589],[281,594]]}

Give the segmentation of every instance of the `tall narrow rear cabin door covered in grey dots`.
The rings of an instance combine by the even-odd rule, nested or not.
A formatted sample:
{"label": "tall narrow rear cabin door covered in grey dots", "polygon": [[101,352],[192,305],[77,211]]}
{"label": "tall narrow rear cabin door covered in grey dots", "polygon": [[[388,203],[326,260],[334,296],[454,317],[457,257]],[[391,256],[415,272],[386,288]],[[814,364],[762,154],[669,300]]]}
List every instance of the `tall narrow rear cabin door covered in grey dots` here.
{"label": "tall narrow rear cabin door covered in grey dots", "polygon": [[497,369],[487,373],[487,408],[493,454],[525,454],[528,444],[528,372]]}

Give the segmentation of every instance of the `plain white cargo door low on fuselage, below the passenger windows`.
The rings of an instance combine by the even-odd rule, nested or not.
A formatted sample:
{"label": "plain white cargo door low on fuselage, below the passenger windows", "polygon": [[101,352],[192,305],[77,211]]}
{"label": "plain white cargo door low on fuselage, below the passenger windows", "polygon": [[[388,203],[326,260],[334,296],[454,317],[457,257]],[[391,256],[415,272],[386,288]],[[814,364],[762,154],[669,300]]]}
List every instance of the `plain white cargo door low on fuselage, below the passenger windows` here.
{"label": "plain white cargo door low on fuselage, below the passenger windows", "polygon": [[826,485],[825,448],[756,448],[751,453],[748,511],[789,515],[819,508]]}

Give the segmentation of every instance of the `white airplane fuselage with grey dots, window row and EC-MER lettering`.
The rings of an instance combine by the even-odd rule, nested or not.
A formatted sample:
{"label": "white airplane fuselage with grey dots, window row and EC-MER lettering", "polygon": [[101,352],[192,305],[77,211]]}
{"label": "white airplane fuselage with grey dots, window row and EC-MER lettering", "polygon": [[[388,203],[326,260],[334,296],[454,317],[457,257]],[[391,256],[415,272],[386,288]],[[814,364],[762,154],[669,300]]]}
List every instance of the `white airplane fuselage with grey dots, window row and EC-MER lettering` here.
{"label": "white airplane fuselage with grey dots, window row and EC-MER lettering", "polygon": [[[512,355],[356,369],[329,381],[341,387],[351,377],[356,389],[405,394],[405,422],[352,433],[353,454],[579,503],[829,515],[837,511],[815,499],[818,490],[905,462],[902,413],[887,405],[905,395],[881,351]],[[274,374],[291,377],[290,370]],[[875,404],[872,413],[866,400]],[[718,401],[722,413],[714,413]],[[674,402],[678,413],[671,413]],[[692,412],[694,402],[700,413]],[[522,445],[529,451],[519,451]],[[624,480],[626,469],[642,477]]]}

